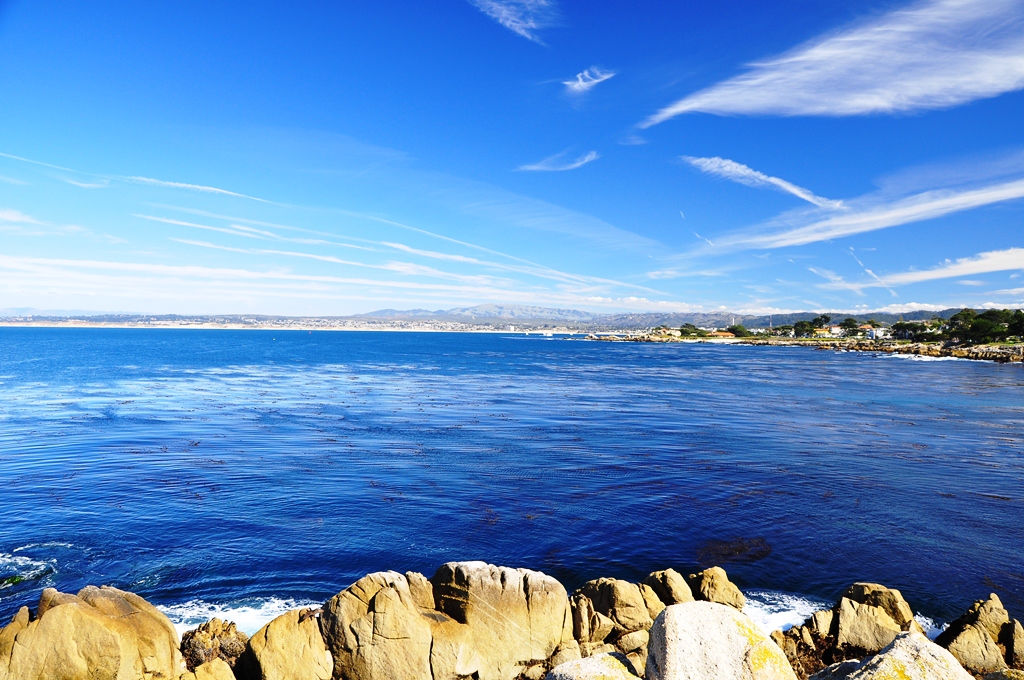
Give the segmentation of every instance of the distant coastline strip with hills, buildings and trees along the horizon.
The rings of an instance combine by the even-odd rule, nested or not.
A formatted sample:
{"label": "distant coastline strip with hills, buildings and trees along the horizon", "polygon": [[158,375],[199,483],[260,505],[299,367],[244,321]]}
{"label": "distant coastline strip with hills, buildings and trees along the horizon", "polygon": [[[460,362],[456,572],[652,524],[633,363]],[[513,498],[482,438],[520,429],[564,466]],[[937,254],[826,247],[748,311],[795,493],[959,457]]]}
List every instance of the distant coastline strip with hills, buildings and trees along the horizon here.
{"label": "distant coastline strip with hills, buildings and trees along the horizon", "polygon": [[0,310],[0,327],[263,331],[396,331],[583,336],[611,342],[797,345],[1000,363],[1024,362],[1024,310],[951,308],[856,315],[793,312],[591,314],[572,309],[477,305],[385,309],[351,316],[110,314]]}

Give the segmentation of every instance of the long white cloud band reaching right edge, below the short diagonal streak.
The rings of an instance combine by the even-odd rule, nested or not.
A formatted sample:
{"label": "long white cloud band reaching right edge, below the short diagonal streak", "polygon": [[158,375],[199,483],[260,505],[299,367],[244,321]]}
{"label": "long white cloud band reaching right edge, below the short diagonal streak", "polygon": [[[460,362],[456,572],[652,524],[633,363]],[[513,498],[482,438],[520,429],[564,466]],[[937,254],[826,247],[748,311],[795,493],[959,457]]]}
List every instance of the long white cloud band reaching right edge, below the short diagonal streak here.
{"label": "long white cloud band reaching right edge, below the short diagonal streak", "polygon": [[846,205],[850,210],[841,215],[820,218],[820,215],[812,214],[812,221],[803,226],[782,230],[773,227],[767,231],[762,228],[738,233],[719,240],[719,245],[730,248],[803,246],[934,219],[1020,198],[1024,198],[1024,179],[970,189],[923,192],[903,199],[884,201],[881,204],[874,197],[867,197],[860,201],[848,201]]}

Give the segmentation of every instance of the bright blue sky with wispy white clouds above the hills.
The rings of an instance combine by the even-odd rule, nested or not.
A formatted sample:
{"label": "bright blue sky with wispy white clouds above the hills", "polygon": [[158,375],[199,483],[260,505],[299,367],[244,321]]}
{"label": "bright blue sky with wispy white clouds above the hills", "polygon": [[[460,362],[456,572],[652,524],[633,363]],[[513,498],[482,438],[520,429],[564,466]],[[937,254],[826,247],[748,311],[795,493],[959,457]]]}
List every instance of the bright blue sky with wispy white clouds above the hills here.
{"label": "bright blue sky with wispy white clouds above the hills", "polygon": [[0,309],[1024,305],[1024,0],[0,0]]}

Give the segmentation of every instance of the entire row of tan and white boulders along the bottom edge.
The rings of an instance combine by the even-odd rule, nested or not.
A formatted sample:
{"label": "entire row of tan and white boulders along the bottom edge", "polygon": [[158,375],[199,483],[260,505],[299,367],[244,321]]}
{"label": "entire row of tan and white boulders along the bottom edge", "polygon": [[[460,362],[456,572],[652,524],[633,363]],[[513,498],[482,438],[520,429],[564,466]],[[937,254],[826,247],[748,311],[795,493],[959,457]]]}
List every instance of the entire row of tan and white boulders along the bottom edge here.
{"label": "entire row of tan and white boulders along the bottom edge", "polygon": [[0,630],[0,680],[1024,680],[1024,629],[995,595],[934,642],[878,584],[786,631],[744,605],[719,567],[570,594],[540,571],[449,562],[371,573],[252,637],[214,619],[179,640],[137,595],[50,588]]}

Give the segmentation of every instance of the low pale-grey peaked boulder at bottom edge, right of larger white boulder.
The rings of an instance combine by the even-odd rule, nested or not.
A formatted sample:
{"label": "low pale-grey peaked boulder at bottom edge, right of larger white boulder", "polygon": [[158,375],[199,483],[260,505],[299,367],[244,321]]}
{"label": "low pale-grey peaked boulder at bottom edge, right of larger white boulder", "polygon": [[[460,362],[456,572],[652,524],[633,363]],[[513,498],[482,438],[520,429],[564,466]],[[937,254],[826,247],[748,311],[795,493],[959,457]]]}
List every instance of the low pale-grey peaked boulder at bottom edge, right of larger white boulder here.
{"label": "low pale-grey peaked boulder at bottom edge, right of larger white boulder", "polygon": [[861,663],[837,664],[811,680],[972,680],[948,651],[921,633],[900,633]]}

